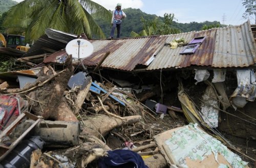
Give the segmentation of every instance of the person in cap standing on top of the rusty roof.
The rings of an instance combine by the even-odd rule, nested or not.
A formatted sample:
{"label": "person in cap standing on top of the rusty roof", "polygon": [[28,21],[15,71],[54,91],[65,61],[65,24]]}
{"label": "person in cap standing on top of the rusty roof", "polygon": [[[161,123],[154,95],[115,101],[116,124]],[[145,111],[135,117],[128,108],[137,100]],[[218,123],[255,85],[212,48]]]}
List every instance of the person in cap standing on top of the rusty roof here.
{"label": "person in cap standing on top of the rusty roof", "polygon": [[122,6],[121,3],[118,3],[112,14],[112,20],[111,20],[112,29],[110,32],[111,39],[113,39],[114,37],[116,28],[117,28],[116,38],[120,38],[122,19],[126,17],[125,13],[121,10],[121,6]]}

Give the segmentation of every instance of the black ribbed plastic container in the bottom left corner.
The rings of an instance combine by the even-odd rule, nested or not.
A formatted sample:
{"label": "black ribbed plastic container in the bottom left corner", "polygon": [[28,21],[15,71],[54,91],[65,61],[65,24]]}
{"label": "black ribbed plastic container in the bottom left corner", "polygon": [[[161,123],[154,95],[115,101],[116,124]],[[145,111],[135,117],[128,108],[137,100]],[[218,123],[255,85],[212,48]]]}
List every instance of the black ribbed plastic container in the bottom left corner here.
{"label": "black ribbed plastic container in the bottom left corner", "polygon": [[[1,162],[5,168],[25,168],[30,166],[30,156],[34,150],[42,149],[45,142],[40,136],[33,136],[20,142]],[[1,167],[1,165],[0,165]]]}

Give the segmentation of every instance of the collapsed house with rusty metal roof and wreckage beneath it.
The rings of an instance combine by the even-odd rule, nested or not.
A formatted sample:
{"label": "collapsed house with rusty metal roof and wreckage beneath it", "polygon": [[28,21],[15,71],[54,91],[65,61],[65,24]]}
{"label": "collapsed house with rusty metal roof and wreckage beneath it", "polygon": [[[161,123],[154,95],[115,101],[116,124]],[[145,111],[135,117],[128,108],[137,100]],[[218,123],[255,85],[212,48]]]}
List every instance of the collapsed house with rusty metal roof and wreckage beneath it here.
{"label": "collapsed house with rusty metal roof and wreckage beneath it", "polygon": [[[98,166],[101,158],[111,158],[108,151],[121,148],[141,151],[143,158],[154,155],[144,158],[151,167],[248,166],[237,154],[255,161],[254,148],[248,156],[227,139],[231,134],[255,144],[256,33],[249,22],[176,35],[87,39],[94,52],[82,62],[65,50],[77,38],[86,39],[47,29],[17,60],[30,70],[0,74],[7,81],[1,92],[22,96],[28,107],[14,124],[6,123],[2,142],[7,135],[15,141],[2,147],[0,159],[15,155],[12,150],[23,138],[37,135],[30,140],[35,149],[44,151],[45,143],[63,150],[34,151],[32,167]],[[198,148],[188,146],[191,137]]]}

